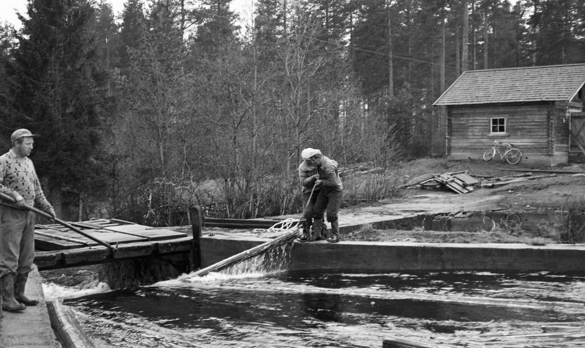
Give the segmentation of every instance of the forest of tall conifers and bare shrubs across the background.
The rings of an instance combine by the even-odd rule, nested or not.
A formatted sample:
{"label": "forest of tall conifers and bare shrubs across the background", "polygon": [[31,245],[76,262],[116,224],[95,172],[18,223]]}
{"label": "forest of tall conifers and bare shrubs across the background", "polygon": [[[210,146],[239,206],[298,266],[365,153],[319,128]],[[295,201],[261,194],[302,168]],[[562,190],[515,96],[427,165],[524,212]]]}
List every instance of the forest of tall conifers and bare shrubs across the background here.
{"label": "forest of tall conifers and bare shrubs across the background", "polygon": [[58,215],[149,225],[299,212],[300,152],[376,175],[441,156],[432,104],[463,71],[585,61],[584,0],[29,0],[0,27],[0,144],[31,156]]}

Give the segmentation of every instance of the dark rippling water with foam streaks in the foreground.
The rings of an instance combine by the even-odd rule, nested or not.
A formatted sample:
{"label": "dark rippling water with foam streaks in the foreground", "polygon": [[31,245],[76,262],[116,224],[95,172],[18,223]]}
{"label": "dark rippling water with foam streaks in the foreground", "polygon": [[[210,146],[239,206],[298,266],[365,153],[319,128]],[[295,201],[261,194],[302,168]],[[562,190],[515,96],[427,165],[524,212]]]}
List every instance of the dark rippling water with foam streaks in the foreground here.
{"label": "dark rippling water with foam streaks in the foreground", "polygon": [[65,303],[98,347],[580,347],[584,295],[585,273],[339,270],[215,273]]}

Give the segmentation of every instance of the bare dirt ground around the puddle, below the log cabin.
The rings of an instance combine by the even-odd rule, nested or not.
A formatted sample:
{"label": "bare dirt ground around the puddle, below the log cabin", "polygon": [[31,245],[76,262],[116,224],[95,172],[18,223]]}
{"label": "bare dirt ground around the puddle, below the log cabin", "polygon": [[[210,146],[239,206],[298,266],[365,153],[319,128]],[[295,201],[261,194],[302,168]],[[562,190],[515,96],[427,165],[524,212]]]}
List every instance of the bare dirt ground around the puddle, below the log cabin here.
{"label": "bare dirt ground around the puddle, below the log cabin", "polygon": [[[572,164],[556,167],[534,167],[520,163],[512,166],[499,160],[466,160],[449,161],[445,159],[419,159],[410,161],[404,166],[404,182],[421,177],[425,174],[442,174],[467,171],[469,174],[493,175],[501,181],[515,179],[515,175],[531,173],[532,175],[556,175],[513,182],[494,188],[474,187],[466,194],[457,194],[443,189],[404,188],[398,197],[384,199],[376,204],[345,209],[351,214],[355,211],[370,210],[384,207],[397,213],[420,213],[446,210],[457,210],[466,206],[498,204],[505,211],[518,214],[549,213],[560,216],[561,220],[572,222],[566,226],[546,220],[537,228],[497,228],[478,229],[474,232],[435,232],[418,230],[374,230],[363,229],[344,236],[345,240],[392,241],[415,240],[417,242],[458,242],[458,243],[578,243],[585,209],[585,164]],[[528,171],[528,172],[526,172]],[[570,172],[570,173],[560,173]],[[569,219],[570,218],[570,219]],[[552,219],[552,218],[551,218]],[[533,226],[534,227],[534,226]]]}

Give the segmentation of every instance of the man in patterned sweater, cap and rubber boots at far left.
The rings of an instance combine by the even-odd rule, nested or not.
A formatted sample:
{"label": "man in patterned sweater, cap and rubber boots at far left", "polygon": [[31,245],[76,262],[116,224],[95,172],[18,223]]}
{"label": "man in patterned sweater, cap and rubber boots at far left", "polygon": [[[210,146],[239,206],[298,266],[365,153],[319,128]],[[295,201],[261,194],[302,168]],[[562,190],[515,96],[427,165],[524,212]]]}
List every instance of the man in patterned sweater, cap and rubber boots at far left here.
{"label": "man in patterned sweater, cap and rubber boots at far left", "polygon": [[12,149],[0,156],[0,192],[16,204],[0,202],[0,282],[2,309],[22,311],[39,304],[25,296],[25,284],[35,258],[35,213],[25,209],[35,203],[56,218],[44,197],[35,167],[28,158],[38,135],[27,129],[12,133]]}

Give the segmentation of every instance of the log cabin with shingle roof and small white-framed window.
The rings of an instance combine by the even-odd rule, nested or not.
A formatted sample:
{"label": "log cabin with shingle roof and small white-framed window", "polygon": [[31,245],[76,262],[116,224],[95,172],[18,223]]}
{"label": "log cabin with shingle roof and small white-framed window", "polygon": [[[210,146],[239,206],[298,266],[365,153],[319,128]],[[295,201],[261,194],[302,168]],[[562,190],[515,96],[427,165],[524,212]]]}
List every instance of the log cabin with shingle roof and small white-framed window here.
{"label": "log cabin with shingle roof and small white-framed window", "polygon": [[500,141],[523,163],[585,163],[584,84],[585,64],[465,71],[433,104],[446,107],[446,156],[481,159]]}

